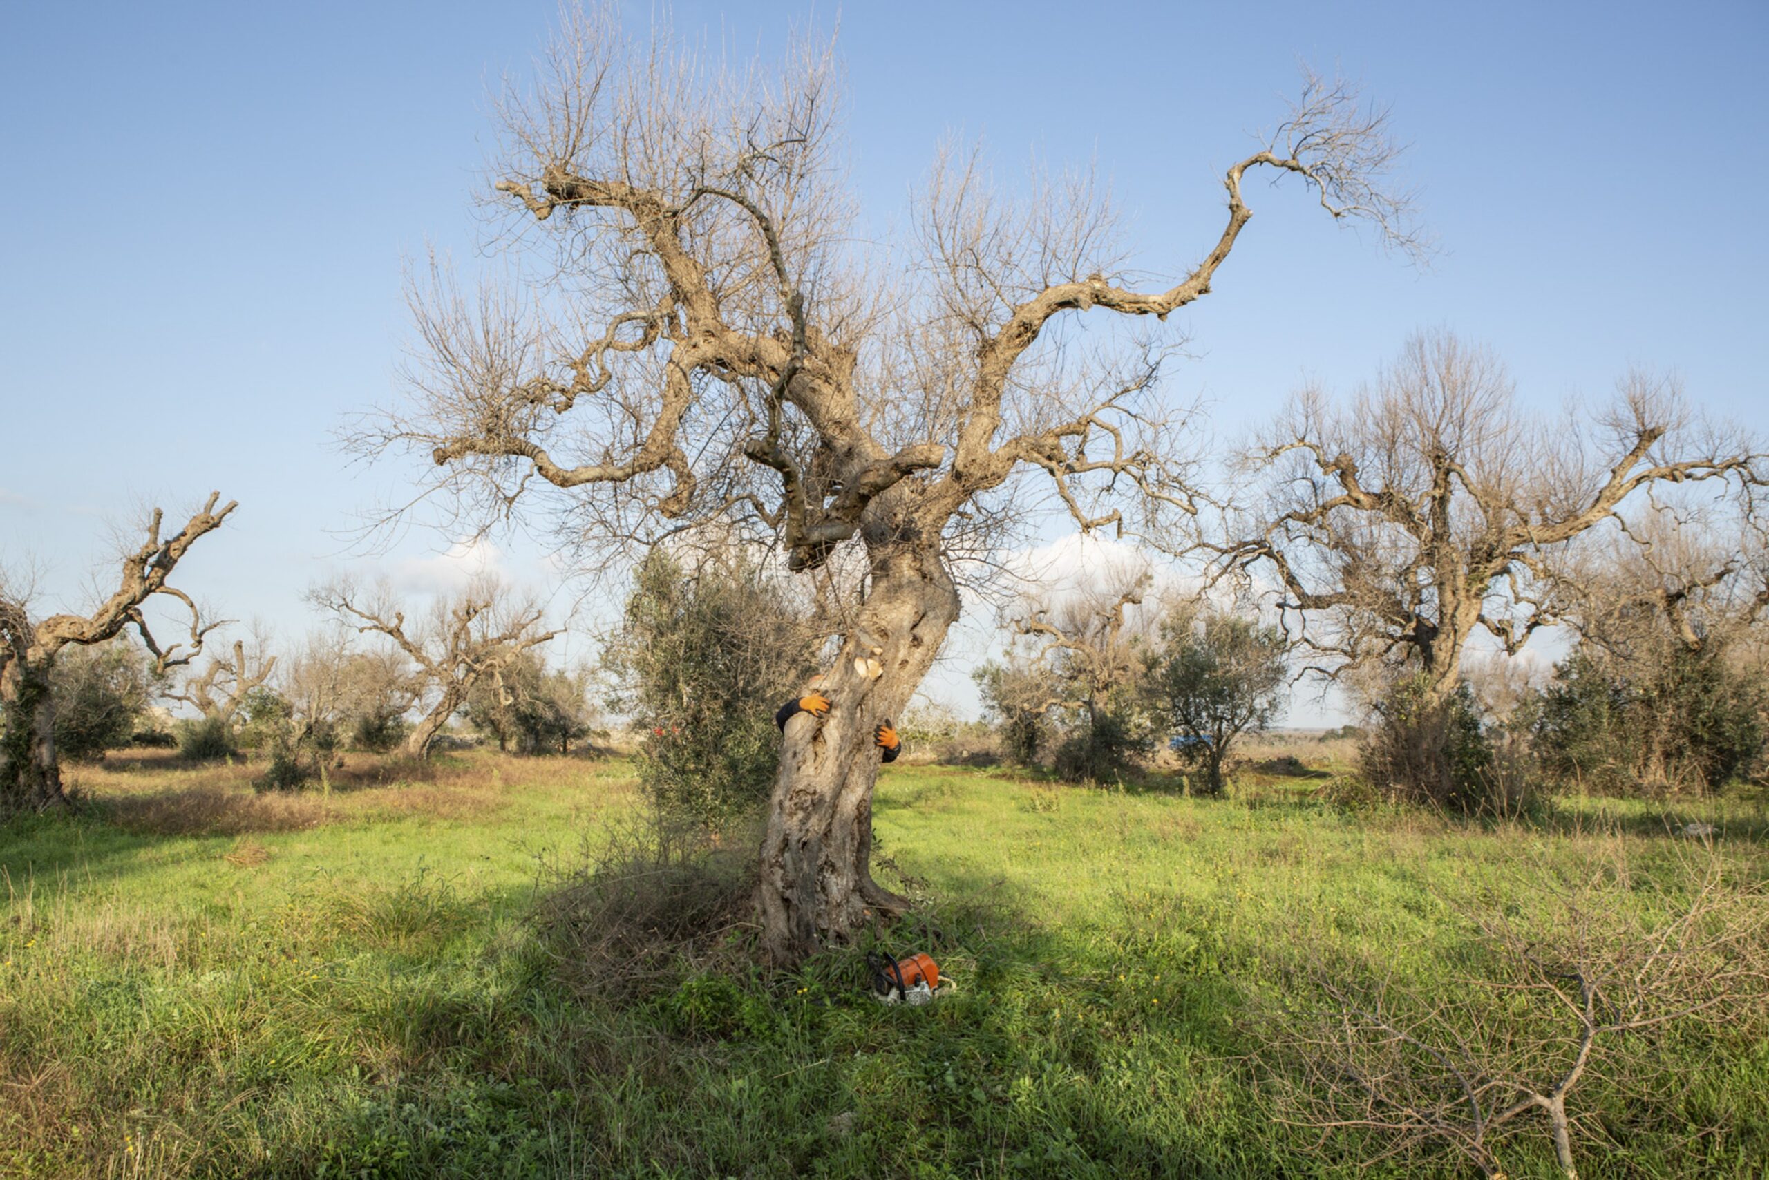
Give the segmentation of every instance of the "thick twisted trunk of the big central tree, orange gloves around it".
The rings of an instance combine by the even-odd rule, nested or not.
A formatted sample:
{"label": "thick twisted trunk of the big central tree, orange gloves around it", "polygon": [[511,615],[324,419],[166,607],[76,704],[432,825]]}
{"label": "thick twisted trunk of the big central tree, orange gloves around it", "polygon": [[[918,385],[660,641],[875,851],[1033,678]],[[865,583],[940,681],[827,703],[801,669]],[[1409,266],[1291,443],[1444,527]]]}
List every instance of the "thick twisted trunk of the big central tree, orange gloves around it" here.
{"label": "thick twisted trunk of the big central tree, orange gloves around it", "polygon": [[[791,964],[846,939],[872,915],[907,902],[872,879],[872,731],[897,718],[959,617],[959,591],[938,554],[902,554],[876,568],[860,624],[847,635],[823,693],[823,718],[787,722],[762,839],[757,909],[762,946]],[[874,656],[883,674],[854,669]]]}

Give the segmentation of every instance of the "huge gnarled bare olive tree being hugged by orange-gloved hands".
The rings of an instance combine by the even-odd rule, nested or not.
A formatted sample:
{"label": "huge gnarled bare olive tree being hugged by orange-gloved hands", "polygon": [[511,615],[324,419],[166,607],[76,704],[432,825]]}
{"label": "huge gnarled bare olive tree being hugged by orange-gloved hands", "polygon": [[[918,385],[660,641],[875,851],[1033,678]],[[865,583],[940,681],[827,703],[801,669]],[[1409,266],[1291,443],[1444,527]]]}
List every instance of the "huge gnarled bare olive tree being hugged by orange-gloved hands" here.
{"label": "huge gnarled bare olive tree being hugged by orange-gloved hands", "polygon": [[453,518],[483,527],[564,492],[555,520],[586,559],[715,520],[778,543],[793,570],[863,548],[835,708],[787,727],[764,837],[764,945],[794,961],[906,904],[870,876],[874,727],[959,616],[955,563],[1035,510],[1021,476],[1049,479],[1081,529],[1157,533],[1194,510],[1182,416],[1157,395],[1168,349],[1077,320],[1166,320],[1205,295],[1261,170],[1412,246],[1405,200],[1382,188],[1396,150],[1382,111],[1309,78],[1228,170],[1210,246],[1171,287],[1136,290],[1090,179],[1038,180],[1017,203],[975,156],[939,159],[915,241],[862,257],[826,46],[773,76],[708,76],[667,32],[633,44],[605,9],[568,14],[538,73],[501,108],[494,172],[515,214],[501,246],[550,251],[529,271],[550,278],[472,297],[439,272],[414,299],[412,400],[357,442],[421,456]]}

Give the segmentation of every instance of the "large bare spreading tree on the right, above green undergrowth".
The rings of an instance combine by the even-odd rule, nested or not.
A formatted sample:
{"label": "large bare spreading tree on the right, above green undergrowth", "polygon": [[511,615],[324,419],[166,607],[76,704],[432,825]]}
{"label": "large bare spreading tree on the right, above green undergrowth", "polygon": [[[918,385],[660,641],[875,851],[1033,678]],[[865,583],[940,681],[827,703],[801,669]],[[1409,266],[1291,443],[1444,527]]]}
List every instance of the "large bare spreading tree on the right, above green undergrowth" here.
{"label": "large bare spreading tree on the right, above green undergrowth", "polygon": [[1562,617],[1557,561],[1656,488],[1769,479],[1757,442],[1695,419],[1673,380],[1631,373],[1596,430],[1525,414],[1491,352],[1415,336],[1341,405],[1302,393],[1247,458],[1268,497],[1214,545],[1267,577],[1329,676],[1415,667],[1433,702],[1484,630],[1518,653]]}

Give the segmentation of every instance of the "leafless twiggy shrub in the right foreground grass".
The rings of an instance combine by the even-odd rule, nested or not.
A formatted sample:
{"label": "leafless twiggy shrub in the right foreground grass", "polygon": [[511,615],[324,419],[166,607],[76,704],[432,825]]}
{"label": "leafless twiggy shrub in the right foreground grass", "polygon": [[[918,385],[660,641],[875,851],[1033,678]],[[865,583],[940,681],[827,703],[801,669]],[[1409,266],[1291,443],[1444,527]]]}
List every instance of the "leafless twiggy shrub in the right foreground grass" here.
{"label": "leafless twiggy shrub in the right foreground grass", "polygon": [[1392,952],[1297,968],[1256,1023],[1277,1120],[1350,1136],[1364,1164],[1454,1152],[1498,1176],[1551,1145],[1576,1176],[1604,1136],[1580,1106],[1649,1127],[1691,1083],[1689,1038],[1769,1031],[1762,886],[1711,851],[1679,869],[1636,876],[1619,840],[1578,876],[1541,869],[1465,915],[1468,966],[1431,984]]}

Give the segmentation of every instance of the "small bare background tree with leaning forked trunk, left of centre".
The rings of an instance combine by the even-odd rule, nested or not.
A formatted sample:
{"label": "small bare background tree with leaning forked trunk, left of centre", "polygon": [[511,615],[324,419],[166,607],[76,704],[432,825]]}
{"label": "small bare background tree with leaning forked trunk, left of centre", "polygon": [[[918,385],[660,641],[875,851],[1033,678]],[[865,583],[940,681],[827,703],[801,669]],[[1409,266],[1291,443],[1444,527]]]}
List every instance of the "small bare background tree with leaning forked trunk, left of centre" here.
{"label": "small bare background tree with leaning forked trunk, left of centre", "polygon": [[331,610],[357,633],[391,639],[417,667],[423,692],[435,693],[430,709],[412,725],[405,752],[428,757],[437,734],[467,704],[481,676],[517,660],[529,647],[561,632],[541,632],[541,607],[513,600],[495,579],[474,579],[467,589],[432,603],[428,614],[407,630],[405,610],[387,587],[363,596],[350,582],[315,589],[310,600]]}

